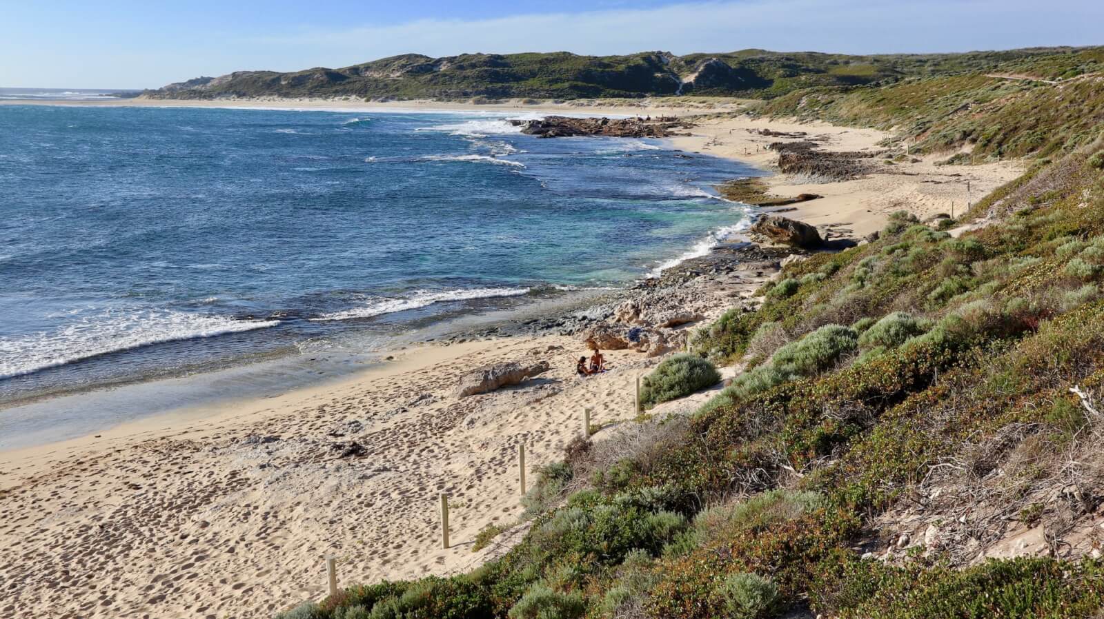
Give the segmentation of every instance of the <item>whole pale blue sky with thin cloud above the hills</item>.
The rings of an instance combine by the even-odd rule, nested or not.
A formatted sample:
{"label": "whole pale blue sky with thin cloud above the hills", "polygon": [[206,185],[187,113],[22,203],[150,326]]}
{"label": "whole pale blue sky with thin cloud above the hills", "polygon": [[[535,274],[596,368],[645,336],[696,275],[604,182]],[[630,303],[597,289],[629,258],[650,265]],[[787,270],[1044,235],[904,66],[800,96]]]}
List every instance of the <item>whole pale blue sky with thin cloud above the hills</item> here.
{"label": "whole pale blue sky with thin cloud above the hills", "polygon": [[1102,0],[0,0],[0,87],[156,88],[421,53],[1104,44]]}

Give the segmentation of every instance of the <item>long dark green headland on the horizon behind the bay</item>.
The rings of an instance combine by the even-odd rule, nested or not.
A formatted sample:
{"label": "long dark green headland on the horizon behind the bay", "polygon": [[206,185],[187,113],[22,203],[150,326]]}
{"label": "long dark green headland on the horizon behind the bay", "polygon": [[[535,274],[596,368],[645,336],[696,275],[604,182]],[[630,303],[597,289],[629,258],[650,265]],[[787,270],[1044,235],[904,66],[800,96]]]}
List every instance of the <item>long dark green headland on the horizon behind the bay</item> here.
{"label": "long dark green headland on the horizon behind the bay", "polygon": [[[676,56],[566,52],[392,56],[343,68],[240,71],[147,90],[153,98],[340,97],[365,99],[594,98],[690,94],[773,97],[814,86],[854,86],[909,76],[1015,67],[1075,53],[1069,47],[853,56],[744,50]],[[1058,62],[1059,65],[1063,63]]]}

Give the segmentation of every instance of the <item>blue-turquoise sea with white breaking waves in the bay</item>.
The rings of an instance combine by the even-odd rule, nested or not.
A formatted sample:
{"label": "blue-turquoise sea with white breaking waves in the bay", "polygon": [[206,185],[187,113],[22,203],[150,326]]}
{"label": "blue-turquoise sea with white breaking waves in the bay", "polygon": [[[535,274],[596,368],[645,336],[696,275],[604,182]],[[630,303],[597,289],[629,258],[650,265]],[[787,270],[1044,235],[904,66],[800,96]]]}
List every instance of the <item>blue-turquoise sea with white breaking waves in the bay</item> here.
{"label": "blue-turquoise sea with white breaking waves in the bay", "polygon": [[750,168],[502,118],[0,106],[0,403],[378,345],[743,220],[709,186]]}

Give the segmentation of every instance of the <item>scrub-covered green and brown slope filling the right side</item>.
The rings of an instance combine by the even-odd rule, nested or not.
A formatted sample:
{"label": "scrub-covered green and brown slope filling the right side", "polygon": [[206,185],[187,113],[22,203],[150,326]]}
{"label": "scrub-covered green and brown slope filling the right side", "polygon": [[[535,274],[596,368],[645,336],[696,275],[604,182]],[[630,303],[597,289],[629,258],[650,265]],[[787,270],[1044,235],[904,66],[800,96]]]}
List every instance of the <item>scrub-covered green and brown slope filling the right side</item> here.
{"label": "scrub-covered green and brown slope filling the right side", "polygon": [[[877,241],[790,264],[760,309],[699,329],[649,402],[711,363],[744,373],[689,417],[571,444],[503,556],[282,619],[1104,616],[1101,534],[1083,533],[1104,504],[1102,56],[1005,55],[1037,81],[958,56],[954,75],[767,103],[1027,171],[957,221],[899,212]],[[932,524],[902,536],[910,514]],[[1029,530],[1049,553],[979,557]]]}

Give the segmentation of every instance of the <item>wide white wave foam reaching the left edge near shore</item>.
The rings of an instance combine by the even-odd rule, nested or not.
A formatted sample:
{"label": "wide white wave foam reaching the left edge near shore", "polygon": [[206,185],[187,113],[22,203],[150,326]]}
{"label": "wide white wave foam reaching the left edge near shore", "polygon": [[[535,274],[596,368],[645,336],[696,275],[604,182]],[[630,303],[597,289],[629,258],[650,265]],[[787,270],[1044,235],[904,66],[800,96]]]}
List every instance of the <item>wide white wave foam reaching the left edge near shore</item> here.
{"label": "wide white wave foam reaching the left edge near shore", "polygon": [[[66,312],[84,313],[82,310]],[[76,319],[55,331],[0,338],[0,378],[31,374],[110,352],[213,338],[279,324],[172,310],[115,309]]]}

